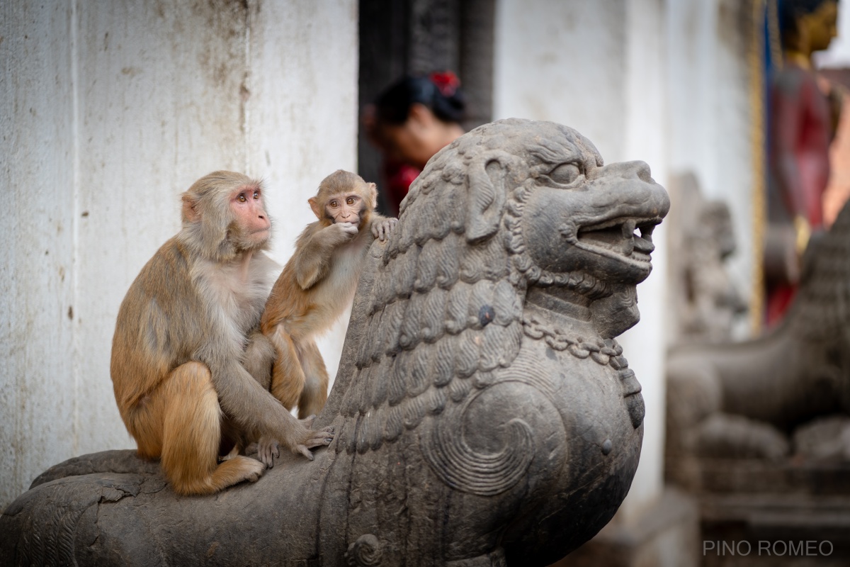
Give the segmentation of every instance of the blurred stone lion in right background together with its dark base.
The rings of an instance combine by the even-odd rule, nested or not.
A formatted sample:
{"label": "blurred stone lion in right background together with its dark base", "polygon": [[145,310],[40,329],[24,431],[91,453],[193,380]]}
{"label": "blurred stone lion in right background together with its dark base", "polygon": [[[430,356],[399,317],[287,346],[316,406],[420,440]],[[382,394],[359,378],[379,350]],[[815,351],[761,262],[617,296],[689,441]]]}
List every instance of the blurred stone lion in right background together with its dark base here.
{"label": "blurred stone lion in right background together with its dark base", "polygon": [[803,260],[774,332],[668,360],[667,479],[698,497],[703,541],[751,547],[742,566],[850,564],[850,207]]}

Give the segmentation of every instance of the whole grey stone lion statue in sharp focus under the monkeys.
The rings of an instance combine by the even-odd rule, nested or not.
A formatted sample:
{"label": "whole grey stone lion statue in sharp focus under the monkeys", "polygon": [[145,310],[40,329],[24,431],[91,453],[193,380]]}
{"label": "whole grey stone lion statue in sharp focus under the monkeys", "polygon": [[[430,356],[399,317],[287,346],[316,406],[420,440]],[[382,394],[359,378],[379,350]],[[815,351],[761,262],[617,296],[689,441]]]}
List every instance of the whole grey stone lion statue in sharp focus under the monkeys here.
{"label": "whole grey stone lion statue in sharp focus under the monkeys", "polygon": [[371,248],[327,451],[206,497],[130,451],[71,459],[8,507],[0,563],[552,563],[638,466],[643,399],[614,337],[668,207],[649,167],[604,166],[570,128],[476,128]]}

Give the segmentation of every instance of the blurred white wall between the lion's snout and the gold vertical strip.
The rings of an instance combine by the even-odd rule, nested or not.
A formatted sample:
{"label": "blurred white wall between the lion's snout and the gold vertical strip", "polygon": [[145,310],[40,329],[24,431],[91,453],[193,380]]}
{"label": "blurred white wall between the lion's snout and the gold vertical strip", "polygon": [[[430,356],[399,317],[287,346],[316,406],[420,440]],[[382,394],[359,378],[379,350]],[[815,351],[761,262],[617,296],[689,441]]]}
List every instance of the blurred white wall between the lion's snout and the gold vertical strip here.
{"label": "blurred white wall between the lion's snout and the gold vertical strip", "polygon": [[[703,195],[725,201],[732,212],[738,247],[729,275],[750,298],[761,252],[753,248],[753,109],[748,53],[739,0],[667,0],[666,88],[669,169],[693,172]],[[746,7],[749,7],[749,3]],[[740,319],[735,336],[746,337]]]}

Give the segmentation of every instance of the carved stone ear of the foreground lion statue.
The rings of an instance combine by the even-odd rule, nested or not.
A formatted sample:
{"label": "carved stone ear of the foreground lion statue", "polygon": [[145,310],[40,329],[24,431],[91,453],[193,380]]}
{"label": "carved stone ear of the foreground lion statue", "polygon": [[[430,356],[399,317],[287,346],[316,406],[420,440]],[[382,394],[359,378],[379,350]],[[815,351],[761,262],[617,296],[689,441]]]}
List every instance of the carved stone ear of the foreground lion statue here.
{"label": "carved stone ear of the foreground lion statue", "polygon": [[495,235],[505,209],[505,167],[495,157],[469,166],[467,241],[471,244]]}

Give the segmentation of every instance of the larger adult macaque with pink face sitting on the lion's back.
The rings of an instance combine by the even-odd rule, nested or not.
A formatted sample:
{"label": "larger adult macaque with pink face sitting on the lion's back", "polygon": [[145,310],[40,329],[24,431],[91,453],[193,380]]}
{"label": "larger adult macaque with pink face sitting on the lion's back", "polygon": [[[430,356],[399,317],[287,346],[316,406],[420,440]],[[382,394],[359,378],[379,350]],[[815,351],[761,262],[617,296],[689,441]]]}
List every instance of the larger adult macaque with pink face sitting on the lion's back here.
{"label": "larger adult macaque with pink face sitting on the lion's back", "polygon": [[328,445],[332,433],[292,417],[241,364],[271,362],[245,360],[266,355],[248,333],[258,326],[275,269],[263,252],[271,225],[260,183],[210,173],[183,194],[182,217],[180,232],[124,298],[111,375],[139,456],[161,457],[175,492],[208,494],[255,481],[265,468],[238,455],[218,464],[223,421],[235,440],[265,436],[310,459],[309,448]]}

